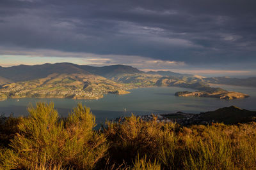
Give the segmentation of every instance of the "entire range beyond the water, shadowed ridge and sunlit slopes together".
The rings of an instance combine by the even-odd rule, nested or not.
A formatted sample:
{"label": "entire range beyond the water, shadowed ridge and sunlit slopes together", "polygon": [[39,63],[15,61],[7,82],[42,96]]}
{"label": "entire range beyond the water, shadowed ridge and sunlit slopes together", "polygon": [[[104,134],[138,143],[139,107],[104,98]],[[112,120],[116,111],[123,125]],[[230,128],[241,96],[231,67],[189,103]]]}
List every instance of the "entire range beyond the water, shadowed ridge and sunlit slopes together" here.
{"label": "entire range beyond the water, shadowed ridge and sunlit slopes together", "polygon": [[227,92],[209,83],[255,87],[256,78],[204,78],[172,71],[140,71],[125,65],[94,67],[72,63],[0,66],[0,98],[70,97],[95,99],[103,94],[126,94],[148,86],[175,86],[207,92]]}

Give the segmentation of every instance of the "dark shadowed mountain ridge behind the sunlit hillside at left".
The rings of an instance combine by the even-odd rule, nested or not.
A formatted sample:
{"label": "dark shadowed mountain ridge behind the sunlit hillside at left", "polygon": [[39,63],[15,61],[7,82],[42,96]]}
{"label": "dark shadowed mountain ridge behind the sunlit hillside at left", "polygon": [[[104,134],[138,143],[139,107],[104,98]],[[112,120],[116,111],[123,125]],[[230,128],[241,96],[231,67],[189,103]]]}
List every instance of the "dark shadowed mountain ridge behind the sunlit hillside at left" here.
{"label": "dark shadowed mountain ridge behind the sunlit hillside at left", "polygon": [[38,78],[45,78],[49,74],[72,74],[72,73],[83,73],[83,74],[95,74],[109,78],[117,74],[134,74],[144,73],[139,69],[131,66],[124,65],[113,65],[104,67],[93,67],[77,65],[68,62],[61,62],[55,64],[45,63],[42,65],[19,65],[12,67],[0,67],[0,76],[10,81],[28,81]]}

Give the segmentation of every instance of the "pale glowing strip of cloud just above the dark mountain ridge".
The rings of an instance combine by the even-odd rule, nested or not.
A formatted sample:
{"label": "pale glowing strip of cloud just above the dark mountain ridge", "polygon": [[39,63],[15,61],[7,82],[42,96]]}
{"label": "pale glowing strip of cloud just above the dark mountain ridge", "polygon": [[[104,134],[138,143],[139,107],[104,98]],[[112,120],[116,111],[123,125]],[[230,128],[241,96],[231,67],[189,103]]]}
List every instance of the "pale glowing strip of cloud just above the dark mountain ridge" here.
{"label": "pale glowing strip of cloud just above the dark mountain ridge", "polygon": [[[1,50],[0,66],[13,66],[19,64],[44,64],[45,62],[73,62],[75,64],[90,65],[90,66],[109,66],[113,64],[127,64],[137,67],[138,69],[170,69],[174,67],[184,67],[184,62],[165,61],[159,59],[150,59],[137,55],[99,55],[95,53],[84,52],[61,52],[57,50],[31,50],[31,51],[13,51]],[[19,62],[22,60],[22,62]],[[38,60],[40,62],[38,62]]]}

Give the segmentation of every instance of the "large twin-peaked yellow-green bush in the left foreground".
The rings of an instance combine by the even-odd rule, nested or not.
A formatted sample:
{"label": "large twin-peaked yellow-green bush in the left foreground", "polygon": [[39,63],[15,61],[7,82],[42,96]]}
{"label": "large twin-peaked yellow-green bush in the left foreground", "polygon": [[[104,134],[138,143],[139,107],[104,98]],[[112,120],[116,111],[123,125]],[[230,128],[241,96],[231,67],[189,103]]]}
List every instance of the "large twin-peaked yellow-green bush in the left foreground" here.
{"label": "large twin-peaked yellow-green bush in the left foreground", "polygon": [[34,169],[40,165],[92,169],[108,148],[103,134],[92,130],[95,117],[78,104],[66,121],[60,120],[54,104],[37,103],[21,118],[19,133],[11,148],[1,153],[6,169]]}

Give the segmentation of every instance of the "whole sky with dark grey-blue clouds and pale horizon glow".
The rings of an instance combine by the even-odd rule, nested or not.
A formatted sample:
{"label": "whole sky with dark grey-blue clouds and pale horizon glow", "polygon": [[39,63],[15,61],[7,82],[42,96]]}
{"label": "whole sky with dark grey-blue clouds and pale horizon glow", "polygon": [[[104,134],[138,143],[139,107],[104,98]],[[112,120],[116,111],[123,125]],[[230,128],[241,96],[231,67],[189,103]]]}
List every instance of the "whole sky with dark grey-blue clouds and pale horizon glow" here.
{"label": "whole sky with dark grey-blue clouds and pale horizon glow", "polygon": [[255,0],[0,0],[0,66],[256,76]]}

